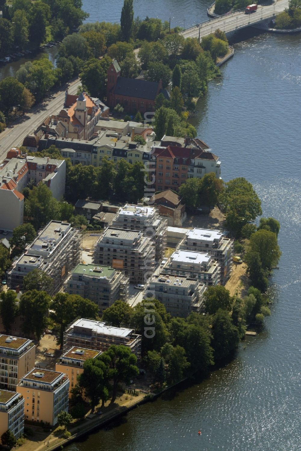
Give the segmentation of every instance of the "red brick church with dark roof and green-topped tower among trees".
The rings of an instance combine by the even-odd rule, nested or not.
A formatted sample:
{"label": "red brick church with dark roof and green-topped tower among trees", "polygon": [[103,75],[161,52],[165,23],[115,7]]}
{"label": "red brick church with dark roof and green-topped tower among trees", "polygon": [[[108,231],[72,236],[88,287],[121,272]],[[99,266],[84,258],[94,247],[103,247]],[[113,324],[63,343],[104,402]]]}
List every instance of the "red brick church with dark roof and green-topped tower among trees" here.
{"label": "red brick church with dark roof and green-topped tower among trees", "polygon": [[155,98],[162,93],[169,99],[169,93],[162,88],[162,80],[148,82],[139,78],[120,77],[120,66],[112,61],[107,72],[107,106],[113,109],[118,103],[129,113],[154,111]]}

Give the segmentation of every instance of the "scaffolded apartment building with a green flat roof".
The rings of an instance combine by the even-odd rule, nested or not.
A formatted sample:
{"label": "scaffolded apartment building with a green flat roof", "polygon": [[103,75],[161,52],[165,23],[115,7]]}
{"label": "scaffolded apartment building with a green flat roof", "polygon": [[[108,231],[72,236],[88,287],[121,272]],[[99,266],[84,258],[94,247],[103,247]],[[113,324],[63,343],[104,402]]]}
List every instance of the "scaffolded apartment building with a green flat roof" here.
{"label": "scaffolded apartment building with a green flat roof", "polygon": [[126,302],[129,294],[129,278],[109,266],[79,264],[65,281],[64,291],[79,295],[97,304],[99,315],[117,299]]}

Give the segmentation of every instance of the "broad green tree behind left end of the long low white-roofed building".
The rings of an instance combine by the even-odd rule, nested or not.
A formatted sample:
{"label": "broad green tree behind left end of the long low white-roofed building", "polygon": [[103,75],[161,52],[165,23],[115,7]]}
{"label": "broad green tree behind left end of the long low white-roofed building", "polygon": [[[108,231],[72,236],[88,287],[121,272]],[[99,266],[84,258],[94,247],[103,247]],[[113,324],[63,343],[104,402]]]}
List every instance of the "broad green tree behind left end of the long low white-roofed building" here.
{"label": "broad green tree behind left end of the long low white-roofed building", "polygon": [[50,318],[58,332],[58,342],[62,346],[65,328],[76,318],[97,319],[98,307],[90,299],[79,295],[57,293],[51,301]]}

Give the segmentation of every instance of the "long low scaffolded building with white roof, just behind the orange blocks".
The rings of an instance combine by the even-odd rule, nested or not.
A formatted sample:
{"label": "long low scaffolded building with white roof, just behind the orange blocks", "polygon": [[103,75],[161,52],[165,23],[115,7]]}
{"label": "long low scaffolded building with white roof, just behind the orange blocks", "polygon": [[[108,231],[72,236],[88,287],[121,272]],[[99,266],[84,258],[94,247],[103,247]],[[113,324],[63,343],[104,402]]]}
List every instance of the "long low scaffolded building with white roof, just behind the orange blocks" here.
{"label": "long low scaffolded building with white roof, just behind the orange blocks", "polygon": [[136,354],[141,354],[141,335],[126,327],[112,327],[105,322],[92,319],[74,321],[64,334],[64,351],[71,347],[107,351],[111,345],[125,345]]}

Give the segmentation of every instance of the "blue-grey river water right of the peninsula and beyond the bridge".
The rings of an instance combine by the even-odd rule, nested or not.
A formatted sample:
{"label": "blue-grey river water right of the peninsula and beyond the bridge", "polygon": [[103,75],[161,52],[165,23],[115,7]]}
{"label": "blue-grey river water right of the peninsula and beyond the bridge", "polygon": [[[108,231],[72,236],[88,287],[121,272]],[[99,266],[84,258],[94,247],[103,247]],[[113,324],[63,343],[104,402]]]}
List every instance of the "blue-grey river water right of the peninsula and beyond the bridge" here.
{"label": "blue-grey river water right of the peninsula and beyond the bridge", "polygon": [[[95,2],[83,3],[91,13]],[[205,18],[209,4],[134,0],[135,15],[172,15],[175,22],[186,16],[186,25],[196,18],[190,9],[198,5]],[[118,20],[121,0],[99,5],[90,20]],[[264,215],[281,223],[280,269],[270,280],[272,314],[226,368],[140,406],[69,451],[301,450],[301,35],[250,36],[236,44],[239,35],[232,37],[234,58],[222,67],[222,79],[209,83],[191,121],[220,156],[223,179],[250,180]]]}

